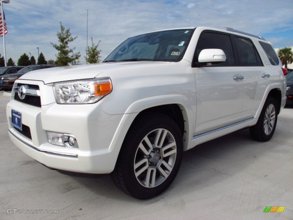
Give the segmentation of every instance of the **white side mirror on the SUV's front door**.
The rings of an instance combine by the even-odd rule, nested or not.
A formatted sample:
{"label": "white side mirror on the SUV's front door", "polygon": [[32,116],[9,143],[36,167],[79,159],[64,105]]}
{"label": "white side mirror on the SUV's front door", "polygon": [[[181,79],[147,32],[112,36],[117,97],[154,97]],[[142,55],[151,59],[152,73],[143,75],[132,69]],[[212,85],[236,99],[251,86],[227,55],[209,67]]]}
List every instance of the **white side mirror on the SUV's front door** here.
{"label": "white side mirror on the SUV's front door", "polygon": [[226,55],[221,49],[203,49],[198,55],[198,62],[201,65],[213,65],[225,62]]}

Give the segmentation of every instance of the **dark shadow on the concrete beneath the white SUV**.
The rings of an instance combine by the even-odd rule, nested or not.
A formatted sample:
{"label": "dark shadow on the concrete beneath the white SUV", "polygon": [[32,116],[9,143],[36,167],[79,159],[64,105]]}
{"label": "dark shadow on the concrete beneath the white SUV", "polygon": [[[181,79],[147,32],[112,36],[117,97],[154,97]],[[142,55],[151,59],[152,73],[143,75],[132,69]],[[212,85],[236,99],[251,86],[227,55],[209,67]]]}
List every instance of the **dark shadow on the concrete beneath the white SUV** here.
{"label": "dark shadow on the concrete beneath the white SUV", "polygon": [[[205,190],[219,181],[245,170],[246,166],[254,163],[264,149],[265,143],[254,141],[248,129],[236,131],[227,136],[198,145],[183,153],[181,168],[173,184],[161,195],[149,199],[147,203],[154,203],[166,197],[172,197],[180,192],[181,196],[189,194],[192,190]],[[80,187],[85,187],[96,194],[97,197],[109,197],[127,202],[137,202],[122,193],[113,183],[109,174],[84,174],[56,170],[71,176]],[[64,187],[74,189],[73,186]],[[76,187],[78,188],[78,187]],[[65,190],[65,192],[68,192]]]}

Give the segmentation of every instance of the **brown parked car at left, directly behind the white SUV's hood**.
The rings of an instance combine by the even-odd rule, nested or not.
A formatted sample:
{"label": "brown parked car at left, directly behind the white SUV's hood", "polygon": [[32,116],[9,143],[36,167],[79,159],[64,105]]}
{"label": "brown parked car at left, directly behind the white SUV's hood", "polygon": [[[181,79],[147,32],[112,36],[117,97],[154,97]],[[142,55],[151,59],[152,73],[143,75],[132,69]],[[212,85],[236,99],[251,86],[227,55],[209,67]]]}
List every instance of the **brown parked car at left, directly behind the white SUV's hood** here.
{"label": "brown parked car at left, directly behind the white SUV's hood", "polygon": [[9,74],[9,75],[2,75],[0,76],[0,88],[4,91],[11,91],[13,84],[16,79],[21,77],[23,74],[33,71],[33,70],[40,70],[40,69],[46,69],[56,67],[56,65],[29,65],[26,67],[21,68],[18,70],[18,72]]}

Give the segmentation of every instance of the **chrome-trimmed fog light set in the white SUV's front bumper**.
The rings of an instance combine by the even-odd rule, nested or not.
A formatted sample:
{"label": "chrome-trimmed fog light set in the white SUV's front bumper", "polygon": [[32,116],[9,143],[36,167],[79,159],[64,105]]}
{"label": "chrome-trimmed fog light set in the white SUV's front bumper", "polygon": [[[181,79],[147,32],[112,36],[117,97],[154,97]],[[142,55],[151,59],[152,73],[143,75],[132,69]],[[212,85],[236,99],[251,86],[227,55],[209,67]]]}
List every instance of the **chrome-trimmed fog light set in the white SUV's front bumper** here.
{"label": "chrome-trimmed fog light set in the white SUV's front bumper", "polygon": [[47,136],[50,144],[68,148],[79,148],[76,138],[72,134],[47,131]]}

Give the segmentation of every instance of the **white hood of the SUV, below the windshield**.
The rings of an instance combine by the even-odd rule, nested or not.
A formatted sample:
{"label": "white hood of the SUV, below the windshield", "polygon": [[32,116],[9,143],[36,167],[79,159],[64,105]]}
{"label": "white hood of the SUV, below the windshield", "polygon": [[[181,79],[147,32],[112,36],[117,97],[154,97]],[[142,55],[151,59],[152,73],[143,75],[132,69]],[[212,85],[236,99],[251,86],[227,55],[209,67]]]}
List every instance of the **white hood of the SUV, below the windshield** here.
{"label": "white hood of the SUV, below the windshield", "polygon": [[91,79],[95,77],[112,77],[113,73],[122,74],[130,70],[145,71],[148,67],[166,65],[168,62],[133,61],[110,62],[94,65],[73,65],[35,70],[26,73],[20,79],[43,81],[45,84],[76,79]]}

